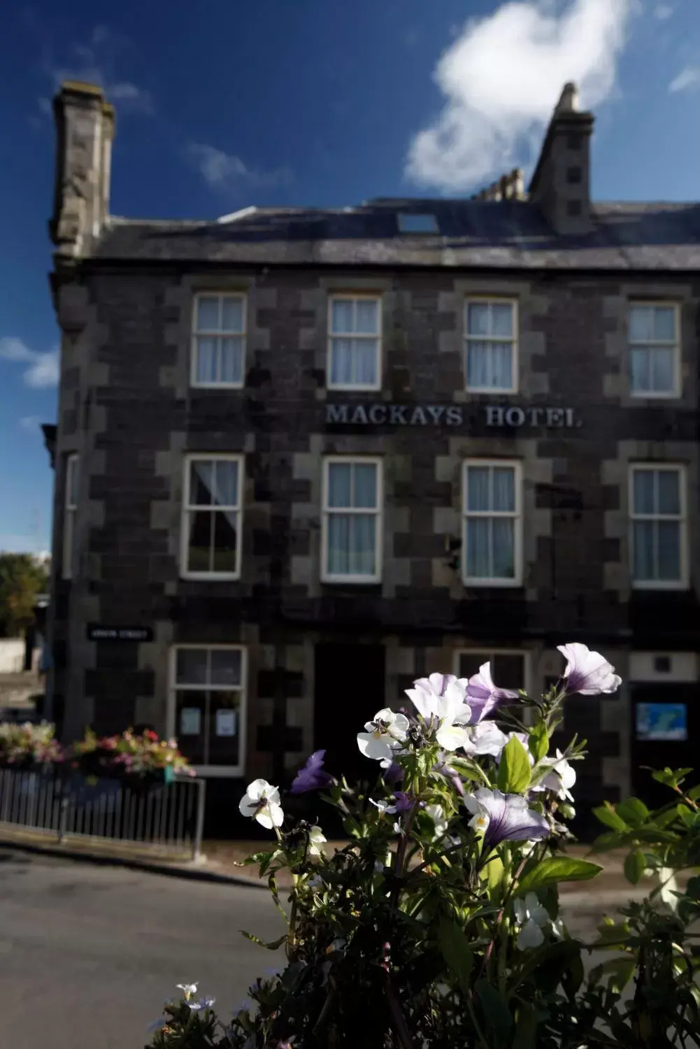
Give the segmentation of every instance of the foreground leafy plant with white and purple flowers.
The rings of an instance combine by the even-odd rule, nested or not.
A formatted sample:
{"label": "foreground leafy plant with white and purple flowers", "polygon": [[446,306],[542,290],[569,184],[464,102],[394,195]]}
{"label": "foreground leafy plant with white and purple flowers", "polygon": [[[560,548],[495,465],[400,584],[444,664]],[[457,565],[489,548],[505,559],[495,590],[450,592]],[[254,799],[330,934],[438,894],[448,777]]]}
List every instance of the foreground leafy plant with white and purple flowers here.
{"label": "foreground leafy plant with white and purple flowers", "polygon": [[[598,811],[609,829],[598,845],[629,850],[628,878],[660,875],[649,899],[607,920],[595,944],[574,940],[559,917],[558,884],[600,868],[566,850],[584,745],[550,754],[550,740],[569,694],[620,684],[585,645],[560,650],[564,675],[540,700],[499,688],[488,664],[468,681],[417,681],[410,711],[380,710],[358,733],[379,770],[367,796],[333,779],[323,751],[313,754],[291,793],[326,790],[351,838],[333,856],[320,827],[287,826],[279,790],[252,783],[240,810],[274,843],[249,862],[268,878],[287,932],[272,943],[243,935],[283,947],[284,969],[257,980],[253,1008],[227,1025],[196,985],[183,988],[151,1045],[662,1049],[697,1035],[686,929],[700,917],[700,878],[682,893],[673,881],[674,871],[700,864],[700,790],[683,790],[683,770],[656,774],[676,792],[658,812],[634,798]],[[292,879],[287,907],[280,871]],[[593,947],[616,957],[586,976]],[[633,978],[629,1002],[621,992]]]}

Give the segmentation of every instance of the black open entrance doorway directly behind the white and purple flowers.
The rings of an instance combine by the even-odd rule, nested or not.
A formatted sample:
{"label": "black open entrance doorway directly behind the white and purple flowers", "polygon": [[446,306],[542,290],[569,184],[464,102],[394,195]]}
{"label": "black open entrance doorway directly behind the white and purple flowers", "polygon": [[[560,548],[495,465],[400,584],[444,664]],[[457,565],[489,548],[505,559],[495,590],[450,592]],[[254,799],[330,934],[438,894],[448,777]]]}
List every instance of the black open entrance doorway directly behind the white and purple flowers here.
{"label": "black open entrance doorway directly behind the white and purple flowers", "polygon": [[386,706],[384,689],[383,645],[316,645],[314,749],[325,749],[331,775],[376,780],[379,765],[360,753],[357,733]]}

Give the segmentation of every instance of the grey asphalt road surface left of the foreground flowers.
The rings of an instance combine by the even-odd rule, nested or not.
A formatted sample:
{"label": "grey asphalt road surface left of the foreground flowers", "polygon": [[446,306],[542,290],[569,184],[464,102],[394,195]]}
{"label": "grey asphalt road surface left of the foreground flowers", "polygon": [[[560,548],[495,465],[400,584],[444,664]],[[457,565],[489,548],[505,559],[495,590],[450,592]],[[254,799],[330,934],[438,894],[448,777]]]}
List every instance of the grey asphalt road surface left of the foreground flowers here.
{"label": "grey asphalt road surface left of the foreground flowers", "polygon": [[228,1020],[282,930],[259,889],[0,850],[0,1044],[141,1049],[175,984],[198,980]]}

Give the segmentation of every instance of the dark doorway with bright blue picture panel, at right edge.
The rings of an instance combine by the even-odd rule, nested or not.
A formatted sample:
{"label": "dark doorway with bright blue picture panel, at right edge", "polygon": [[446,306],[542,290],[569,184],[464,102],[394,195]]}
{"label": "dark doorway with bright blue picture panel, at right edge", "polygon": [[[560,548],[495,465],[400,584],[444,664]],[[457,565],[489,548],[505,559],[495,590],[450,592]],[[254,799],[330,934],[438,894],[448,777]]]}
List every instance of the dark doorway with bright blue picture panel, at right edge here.
{"label": "dark doorway with bright blue picture panel, at right edge", "polygon": [[[633,684],[632,787],[650,808],[673,801],[667,787],[652,779],[652,769],[690,768],[685,786],[700,774],[697,740],[700,733],[700,688],[697,683]],[[697,769],[697,771],[696,771]]]}

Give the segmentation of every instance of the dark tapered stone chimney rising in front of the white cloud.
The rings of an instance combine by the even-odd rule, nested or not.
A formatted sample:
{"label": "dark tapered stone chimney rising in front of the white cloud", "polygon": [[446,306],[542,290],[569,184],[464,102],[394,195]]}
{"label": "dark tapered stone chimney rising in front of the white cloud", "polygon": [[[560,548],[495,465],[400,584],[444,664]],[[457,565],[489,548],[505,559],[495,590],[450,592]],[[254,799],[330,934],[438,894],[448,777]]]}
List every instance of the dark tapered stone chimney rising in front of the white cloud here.
{"label": "dark tapered stone chimney rising in front of the white cloud", "polygon": [[593,114],[579,111],[576,85],[566,84],[529,187],[530,201],[563,236],[581,236],[592,229],[592,130]]}

